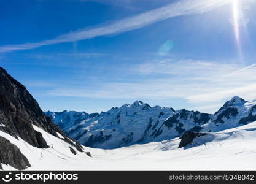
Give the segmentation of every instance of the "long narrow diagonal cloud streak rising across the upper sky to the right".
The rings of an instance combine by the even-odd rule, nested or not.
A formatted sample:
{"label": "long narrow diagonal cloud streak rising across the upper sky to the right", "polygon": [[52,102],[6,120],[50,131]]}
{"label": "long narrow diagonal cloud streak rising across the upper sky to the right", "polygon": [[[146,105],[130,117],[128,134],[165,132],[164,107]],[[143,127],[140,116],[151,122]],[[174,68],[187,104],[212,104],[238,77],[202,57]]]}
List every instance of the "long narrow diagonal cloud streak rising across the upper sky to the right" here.
{"label": "long narrow diagonal cloud streak rising across the upper sky to the right", "polygon": [[76,42],[84,39],[92,39],[98,36],[108,36],[123,33],[125,31],[139,29],[168,18],[206,12],[229,2],[231,2],[231,0],[181,0],[177,3],[168,4],[167,6],[150,10],[149,12],[116,21],[110,25],[97,26],[92,29],[82,29],[60,35],[54,39],[44,40],[42,42],[3,45],[0,47],[0,52],[27,50],[42,47],[44,45],[59,44],[63,42]]}

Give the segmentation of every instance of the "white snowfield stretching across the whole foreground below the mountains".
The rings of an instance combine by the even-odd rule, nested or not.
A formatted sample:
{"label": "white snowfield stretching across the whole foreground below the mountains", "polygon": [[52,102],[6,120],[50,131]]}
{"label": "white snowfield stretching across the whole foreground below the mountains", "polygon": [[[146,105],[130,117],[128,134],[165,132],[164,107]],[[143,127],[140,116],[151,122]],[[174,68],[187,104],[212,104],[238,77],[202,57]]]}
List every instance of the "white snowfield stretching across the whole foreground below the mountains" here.
{"label": "white snowfield stretching across the whole foreground below the mountains", "polygon": [[[192,144],[177,148],[180,139],[150,142],[114,150],[87,148],[73,155],[68,144],[33,125],[53,148],[39,149],[0,131],[29,159],[28,169],[61,170],[196,170],[256,169],[256,122],[196,137]],[[2,165],[4,169],[9,166]]]}

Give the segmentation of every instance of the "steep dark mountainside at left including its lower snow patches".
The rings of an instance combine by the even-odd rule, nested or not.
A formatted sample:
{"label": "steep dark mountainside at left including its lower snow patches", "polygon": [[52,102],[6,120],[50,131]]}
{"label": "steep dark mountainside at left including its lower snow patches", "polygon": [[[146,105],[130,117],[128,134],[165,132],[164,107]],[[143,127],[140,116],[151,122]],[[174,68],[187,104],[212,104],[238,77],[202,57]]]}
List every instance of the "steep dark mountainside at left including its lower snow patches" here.
{"label": "steep dark mountainside at left including its lower snow patches", "polygon": [[25,86],[0,67],[0,169],[26,169],[52,158],[88,157],[82,145],[66,136],[44,115]]}

